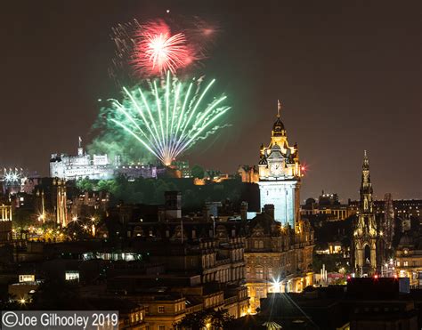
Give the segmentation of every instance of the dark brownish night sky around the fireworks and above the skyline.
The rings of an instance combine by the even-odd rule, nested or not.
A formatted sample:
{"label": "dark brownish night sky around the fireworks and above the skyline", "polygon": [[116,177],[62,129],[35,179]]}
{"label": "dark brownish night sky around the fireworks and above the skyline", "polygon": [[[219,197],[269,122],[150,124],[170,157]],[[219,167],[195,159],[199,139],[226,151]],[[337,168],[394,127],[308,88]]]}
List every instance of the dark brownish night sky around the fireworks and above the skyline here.
{"label": "dark brownish night sky around the fireworks and above the skyline", "polygon": [[[226,4],[230,3],[230,4]],[[118,95],[110,29],[193,15],[218,23],[209,58],[232,124],[185,156],[233,173],[258,162],[277,99],[308,167],[302,198],[358,197],[367,149],[377,198],[420,198],[420,1],[9,1],[0,14],[0,166],[48,173],[53,152],[93,139],[97,100]],[[248,3],[253,3],[254,5]],[[241,5],[240,5],[241,4]]]}

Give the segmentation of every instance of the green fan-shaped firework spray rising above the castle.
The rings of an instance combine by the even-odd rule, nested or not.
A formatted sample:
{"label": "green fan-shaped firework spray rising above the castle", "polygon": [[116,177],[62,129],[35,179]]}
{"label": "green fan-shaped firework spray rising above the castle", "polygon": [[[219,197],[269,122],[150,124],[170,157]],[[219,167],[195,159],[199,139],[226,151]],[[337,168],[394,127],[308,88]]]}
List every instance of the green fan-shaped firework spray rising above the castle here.
{"label": "green fan-shaped firework spray rising above the castle", "polygon": [[183,83],[168,71],[161,85],[152,81],[148,90],[124,88],[124,101],[109,100],[110,123],[170,165],[197,141],[221,128],[217,119],[231,109],[223,105],[224,95],[206,103],[215,80],[203,89],[201,81]]}

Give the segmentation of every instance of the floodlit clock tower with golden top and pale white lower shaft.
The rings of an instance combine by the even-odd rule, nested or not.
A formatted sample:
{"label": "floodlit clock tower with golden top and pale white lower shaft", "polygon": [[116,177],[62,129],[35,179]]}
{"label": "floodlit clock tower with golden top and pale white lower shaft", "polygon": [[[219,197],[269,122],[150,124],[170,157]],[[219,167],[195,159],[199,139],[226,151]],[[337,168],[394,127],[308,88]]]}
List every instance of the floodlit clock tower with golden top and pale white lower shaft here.
{"label": "floodlit clock tower with golden top and pale white lower shaft", "polygon": [[268,147],[261,145],[259,160],[259,190],[261,208],[274,205],[274,220],[296,229],[299,220],[299,190],[301,167],[297,145],[288,145],[286,129],[280,120],[278,102],[277,119],[272,126],[272,139]]}

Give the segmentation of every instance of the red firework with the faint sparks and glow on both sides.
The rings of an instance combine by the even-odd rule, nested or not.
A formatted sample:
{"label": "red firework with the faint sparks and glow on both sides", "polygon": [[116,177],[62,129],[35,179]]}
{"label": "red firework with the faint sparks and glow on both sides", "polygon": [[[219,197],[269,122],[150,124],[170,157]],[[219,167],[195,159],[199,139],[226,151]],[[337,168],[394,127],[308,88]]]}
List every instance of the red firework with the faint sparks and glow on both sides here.
{"label": "red firework with the faint sparks and glow on both sides", "polygon": [[109,75],[117,85],[133,84],[132,78],[139,76],[164,76],[168,70],[180,73],[207,58],[218,27],[199,18],[180,21],[182,26],[164,20],[131,20],[111,29],[115,54]]}

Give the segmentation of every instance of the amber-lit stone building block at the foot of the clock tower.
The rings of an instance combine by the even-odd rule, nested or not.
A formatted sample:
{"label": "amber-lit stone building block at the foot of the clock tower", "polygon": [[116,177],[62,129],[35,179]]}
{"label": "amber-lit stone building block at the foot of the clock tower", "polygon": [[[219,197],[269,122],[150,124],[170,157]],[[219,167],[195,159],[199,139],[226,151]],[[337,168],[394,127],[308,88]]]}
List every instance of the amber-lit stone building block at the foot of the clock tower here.
{"label": "amber-lit stone building block at the foot of the clock tower", "polygon": [[313,230],[298,221],[296,231],[273,219],[272,205],[248,222],[246,286],[252,312],[269,293],[301,292],[312,286]]}

